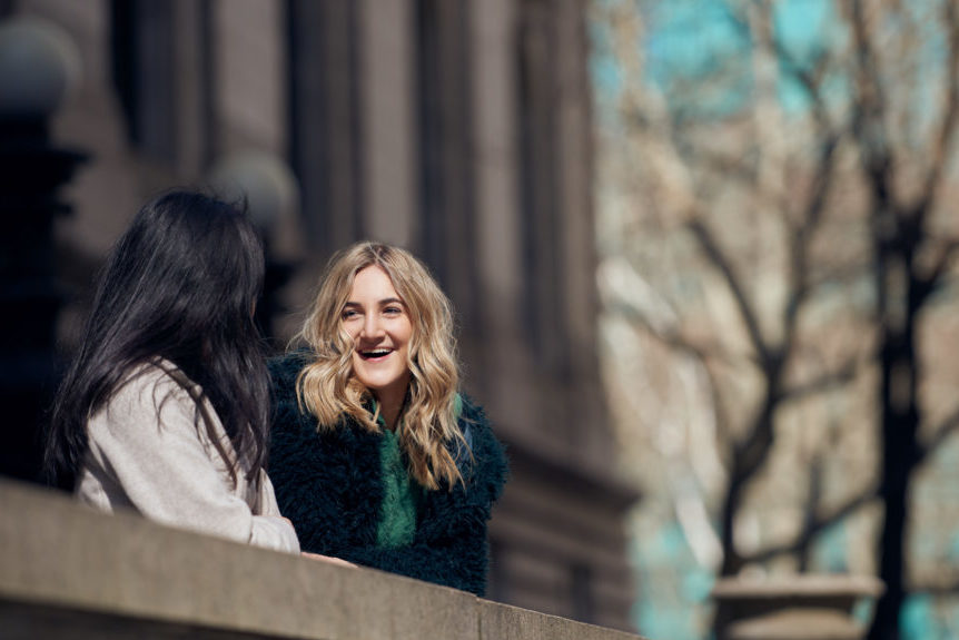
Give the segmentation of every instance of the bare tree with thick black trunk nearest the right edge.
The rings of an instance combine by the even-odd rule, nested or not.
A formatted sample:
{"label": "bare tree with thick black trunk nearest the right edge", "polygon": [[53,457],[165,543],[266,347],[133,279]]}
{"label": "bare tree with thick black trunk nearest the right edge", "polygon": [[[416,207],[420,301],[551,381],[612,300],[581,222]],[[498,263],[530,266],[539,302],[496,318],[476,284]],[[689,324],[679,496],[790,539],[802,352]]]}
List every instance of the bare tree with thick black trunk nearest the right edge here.
{"label": "bare tree with thick black trunk nearest the right edge", "polygon": [[[943,191],[946,164],[959,116],[959,20],[951,0],[929,4],[937,10],[931,17],[942,24],[942,56],[948,62],[939,80],[941,108],[931,114],[938,121],[920,140],[897,134],[893,128],[899,124],[907,128],[914,126],[911,120],[930,115],[910,109],[909,105],[897,122],[898,105],[889,95],[896,90],[894,82],[902,78],[883,68],[883,62],[890,59],[883,60],[877,51],[888,40],[907,51],[921,49],[922,33],[912,22],[911,9],[900,3],[880,6],[857,0],[846,7],[844,16],[854,43],[852,125],[870,189],[879,294],[876,321],[882,329],[879,397],[883,455],[879,495],[886,516],[879,545],[879,574],[887,591],[870,631],[874,640],[899,637],[899,611],[904,598],[908,492],[913,471],[928,453],[919,441],[922,422],[919,400],[922,363],[918,355],[920,314],[930,296],[942,286],[959,240],[937,237],[930,224]],[[890,18],[906,27],[904,35],[894,39],[882,37],[880,21]],[[917,147],[925,152],[916,154]],[[910,174],[908,177],[901,175],[906,171]],[[922,253],[930,254],[931,259],[921,262]],[[936,433],[936,442],[941,441],[947,425]]]}

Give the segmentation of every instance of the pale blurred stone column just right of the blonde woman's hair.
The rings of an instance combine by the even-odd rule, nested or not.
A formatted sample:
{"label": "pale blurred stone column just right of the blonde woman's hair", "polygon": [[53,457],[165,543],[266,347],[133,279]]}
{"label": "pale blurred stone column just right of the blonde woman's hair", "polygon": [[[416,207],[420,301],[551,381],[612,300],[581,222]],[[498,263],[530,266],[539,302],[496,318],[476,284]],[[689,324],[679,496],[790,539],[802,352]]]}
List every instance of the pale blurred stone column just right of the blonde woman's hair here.
{"label": "pale blurred stone column just right of the blonde woman's hair", "polygon": [[[535,429],[530,349],[522,341],[522,273],[515,97],[515,7],[471,2],[473,161],[481,299],[480,341],[488,348],[482,395],[503,431]],[[480,381],[477,381],[480,382]]]}

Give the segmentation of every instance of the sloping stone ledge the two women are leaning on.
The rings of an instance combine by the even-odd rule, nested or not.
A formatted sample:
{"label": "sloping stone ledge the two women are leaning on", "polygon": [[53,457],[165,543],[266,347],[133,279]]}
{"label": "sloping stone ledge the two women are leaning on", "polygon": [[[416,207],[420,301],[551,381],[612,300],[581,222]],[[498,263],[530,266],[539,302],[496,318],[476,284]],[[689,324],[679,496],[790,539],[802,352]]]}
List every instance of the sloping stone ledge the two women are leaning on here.
{"label": "sloping stone ledge the two women are leaning on", "polygon": [[136,514],[105,515],[10,481],[0,480],[0,626],[23,632],[10,638],[40,627],[50,638],[639,638]]}

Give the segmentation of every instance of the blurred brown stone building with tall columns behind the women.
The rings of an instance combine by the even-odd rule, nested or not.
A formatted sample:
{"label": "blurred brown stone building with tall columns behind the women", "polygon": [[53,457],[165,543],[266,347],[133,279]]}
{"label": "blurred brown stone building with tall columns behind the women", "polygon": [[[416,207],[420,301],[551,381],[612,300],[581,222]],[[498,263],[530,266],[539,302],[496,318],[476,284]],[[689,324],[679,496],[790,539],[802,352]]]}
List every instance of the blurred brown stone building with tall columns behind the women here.
{"label": "blurred brown stone building with tall columns behind the women", "polygon": [[79,48],[53,139],[91,155],[56,230],[76,293],[136,208],[250,151],[298,199],[270,221],[275,333],[359,238],[422,256],[453,298],[466,388],[508,444],[490,597],[627,628],[615,445],[597,374],[584,0],[14,0]]}

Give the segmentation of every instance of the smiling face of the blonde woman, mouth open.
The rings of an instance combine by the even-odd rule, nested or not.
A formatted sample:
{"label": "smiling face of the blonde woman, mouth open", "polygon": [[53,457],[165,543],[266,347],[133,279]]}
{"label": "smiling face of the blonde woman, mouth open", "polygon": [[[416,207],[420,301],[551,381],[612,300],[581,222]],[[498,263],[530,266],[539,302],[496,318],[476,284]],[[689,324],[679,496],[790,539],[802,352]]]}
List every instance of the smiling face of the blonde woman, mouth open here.
{"label": "smiling face of the blonde woman, mouth open", "polygon": [[340,315],[353,339],[353,372],[385,406],[403,404],[413,324],[393,282],[370,265],[357,272]]}

